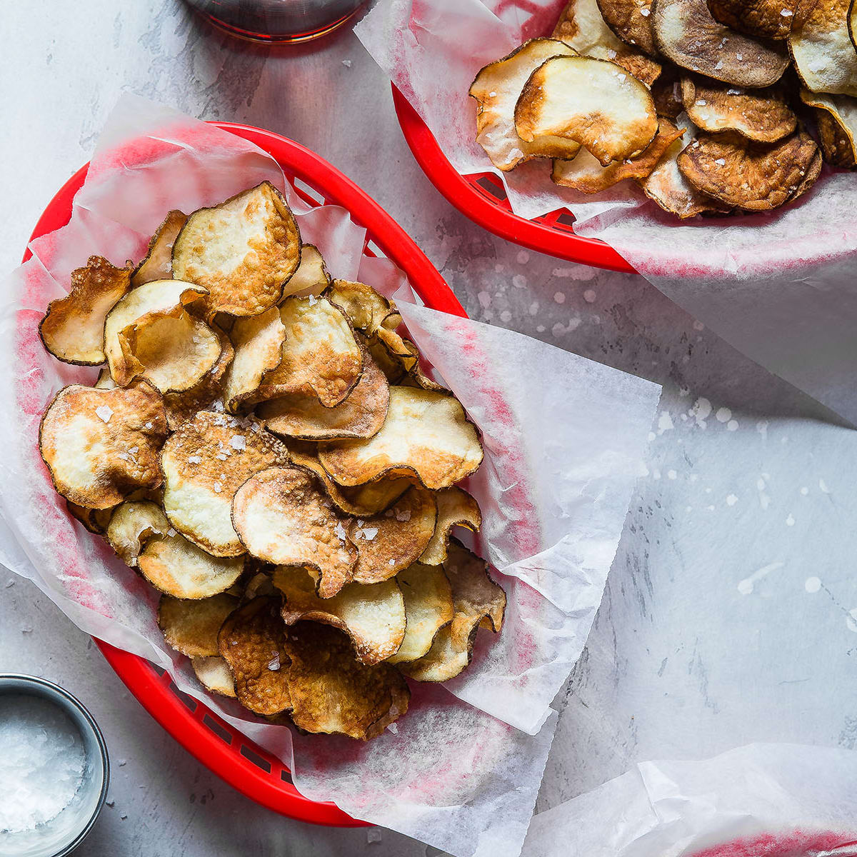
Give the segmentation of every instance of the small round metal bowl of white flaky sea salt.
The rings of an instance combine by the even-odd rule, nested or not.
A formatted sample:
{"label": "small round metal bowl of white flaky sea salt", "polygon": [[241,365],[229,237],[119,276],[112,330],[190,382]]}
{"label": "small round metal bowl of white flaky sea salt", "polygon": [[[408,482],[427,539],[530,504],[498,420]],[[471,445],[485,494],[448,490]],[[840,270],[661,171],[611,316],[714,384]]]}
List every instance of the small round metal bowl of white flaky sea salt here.
{"label": "small round metal bowl of white flaky sea salt", "polygon": [[104,806],[110,765],[93,716],[68,691],[0,674],[0,857],[63,857]]}

